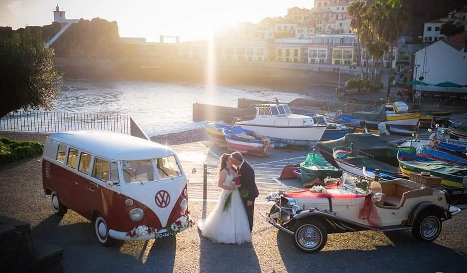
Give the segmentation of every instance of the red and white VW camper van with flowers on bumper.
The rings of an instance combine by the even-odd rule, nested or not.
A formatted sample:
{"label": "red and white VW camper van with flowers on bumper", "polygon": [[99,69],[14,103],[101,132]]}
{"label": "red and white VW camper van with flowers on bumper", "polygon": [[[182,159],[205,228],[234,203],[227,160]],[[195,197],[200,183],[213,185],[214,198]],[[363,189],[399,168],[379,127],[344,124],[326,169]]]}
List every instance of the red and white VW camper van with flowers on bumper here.
{"label": "red and white VW camper van with flowers on bumper", "polygon": [[52,209],[91,220],[99,243],[149,240],[191,226],[187,178],[175,152],[150,140],[99,131],[50,135],[42,163]]}

